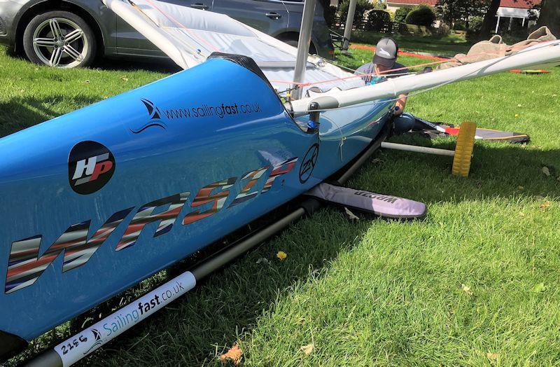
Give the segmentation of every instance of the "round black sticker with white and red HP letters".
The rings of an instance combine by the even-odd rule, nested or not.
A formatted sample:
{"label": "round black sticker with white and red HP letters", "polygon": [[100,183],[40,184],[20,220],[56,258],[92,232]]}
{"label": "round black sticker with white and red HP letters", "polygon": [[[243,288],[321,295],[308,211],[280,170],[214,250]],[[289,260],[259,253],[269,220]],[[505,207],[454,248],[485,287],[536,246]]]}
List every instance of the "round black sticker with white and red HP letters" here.
{"label": "round black sticker with white and red HP letters", "polygon": [[106,146],[96,141],[76,144],[68,157],[70,187],[87,195],[106,185],[115,172],[115,157]]}

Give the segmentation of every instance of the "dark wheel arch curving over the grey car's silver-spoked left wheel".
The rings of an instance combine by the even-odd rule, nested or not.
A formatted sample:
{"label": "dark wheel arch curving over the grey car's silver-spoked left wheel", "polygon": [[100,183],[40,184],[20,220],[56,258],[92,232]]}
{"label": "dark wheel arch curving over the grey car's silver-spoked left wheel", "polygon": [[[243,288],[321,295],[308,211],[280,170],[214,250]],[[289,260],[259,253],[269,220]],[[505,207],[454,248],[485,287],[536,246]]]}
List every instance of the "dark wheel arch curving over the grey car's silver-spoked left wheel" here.
{"label": "dark wheel arch curving over the grey car's silver-spoked left wheel", "polygon": [[70,1],[60,1],[60,0],[44,0],[38,1],[37,3],[29,6],[20,18],[17,20],[17,27],[15,29],[15,48],[16,50],[23,50],[23,34],[25,32],[25,27],[31,22],[31,19],[36,17],[41,13],[46,13],[47,11],[69,11],[70,13],[75,13],[87,22],[95,34],[97,41],[97,50],[99,55],[104,53],[105,36],[102,32],[99,22],[95,20],[94,16],[87,11],[82,6],[75,4]]}

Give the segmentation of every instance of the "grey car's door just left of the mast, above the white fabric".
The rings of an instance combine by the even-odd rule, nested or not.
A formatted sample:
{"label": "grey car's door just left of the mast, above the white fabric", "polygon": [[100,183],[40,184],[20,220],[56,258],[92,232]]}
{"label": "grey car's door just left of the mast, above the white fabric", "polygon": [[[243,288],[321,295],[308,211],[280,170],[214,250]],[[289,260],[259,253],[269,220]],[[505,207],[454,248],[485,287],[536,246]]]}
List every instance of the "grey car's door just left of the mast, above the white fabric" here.
{"label": "grey car's door just left of the mast, above the white fabric", "polygon": [[212,11],[276,36],[288,27],[289,13],[280,0],[214,0]]}

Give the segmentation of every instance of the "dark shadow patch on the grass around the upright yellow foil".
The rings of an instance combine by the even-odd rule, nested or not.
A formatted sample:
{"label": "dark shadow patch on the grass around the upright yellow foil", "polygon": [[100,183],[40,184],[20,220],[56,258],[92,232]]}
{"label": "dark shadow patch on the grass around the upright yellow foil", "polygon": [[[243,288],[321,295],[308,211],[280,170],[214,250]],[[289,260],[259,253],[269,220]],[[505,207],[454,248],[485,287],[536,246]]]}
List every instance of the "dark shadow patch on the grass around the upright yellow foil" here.
{"label": "dark shadow patch on the grass around the upright yellow foil", "polygon": [[[421,137],[398,137],[402,144],[433,146],[454,150],[454,139],[430,141]],[[351,184],[368,186],[372,191],[384,184],[390,193],[426,203],[461,202],[481,198],[556,197],[560,195],[560,151],[537,150],[534,144],[479,142],[471,160],[468,178],[452,176],[453,158],[402,151],[382,150],[377,157],[381,167],[363,169]],[[391,164],[386,164],[391,162]],[[542,172],[547,167],[550,176]],[[395,176],[407,179],[395,180]],[[372,184],[371,184],[372,183]]]}

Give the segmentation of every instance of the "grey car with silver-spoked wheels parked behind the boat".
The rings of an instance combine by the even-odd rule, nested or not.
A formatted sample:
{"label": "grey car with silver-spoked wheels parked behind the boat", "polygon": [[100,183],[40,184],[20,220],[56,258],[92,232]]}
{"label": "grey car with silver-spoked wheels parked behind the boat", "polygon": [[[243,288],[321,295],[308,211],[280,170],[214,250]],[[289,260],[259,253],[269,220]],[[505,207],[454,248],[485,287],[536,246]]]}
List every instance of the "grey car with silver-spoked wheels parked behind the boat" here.
{"label": "grey car with silver-spoked wheels parked behind the boat", "polygon": [[[230,15],[297,46],[303,0],[166,1]],[[166,57],[100,0],[0,0],[0,43],[52,67],[84,67],[102,55],[135,60]],[[334,53],[320,4],[309,51],[329,59]]]}

